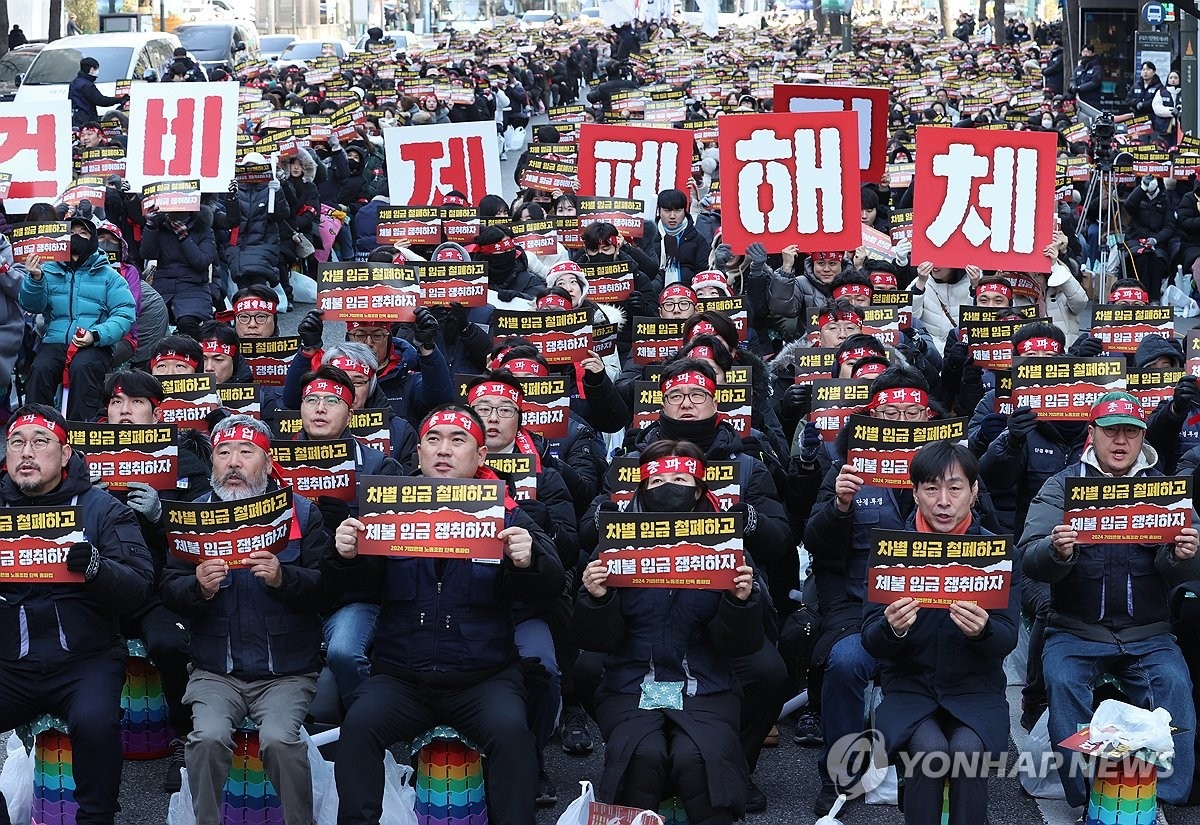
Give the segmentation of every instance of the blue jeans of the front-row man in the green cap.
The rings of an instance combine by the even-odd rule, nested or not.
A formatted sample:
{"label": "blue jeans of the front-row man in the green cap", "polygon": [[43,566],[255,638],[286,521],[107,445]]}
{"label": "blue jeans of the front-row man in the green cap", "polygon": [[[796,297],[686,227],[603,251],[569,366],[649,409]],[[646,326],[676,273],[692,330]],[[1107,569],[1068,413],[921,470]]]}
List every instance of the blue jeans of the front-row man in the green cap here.
{"label": "blue jeans of the front-row man in the green cap", "polygon": [[1092,685],[1104,673],[1121,680],[1130,704],[1165,707],[1171,713],[1171,727],[1178,729],[1174,737],[1174,770],[1170,776],[1159,773],[1158,797],[1169,805],[1187,800],[1195,766],[1196,712],[1192,701],[1192,678],[1174,636],[1162,633],[1121,644],[1091,642],[1049,627],[1043,662],[1050,701],[1050,741],[1063,760],[1058,775],[1069,805],[1087,803],[1087,778],[1079,766],[1072,770],[1072,760],[1080,754],[1060,748],[1057,742],[1092,718]]}

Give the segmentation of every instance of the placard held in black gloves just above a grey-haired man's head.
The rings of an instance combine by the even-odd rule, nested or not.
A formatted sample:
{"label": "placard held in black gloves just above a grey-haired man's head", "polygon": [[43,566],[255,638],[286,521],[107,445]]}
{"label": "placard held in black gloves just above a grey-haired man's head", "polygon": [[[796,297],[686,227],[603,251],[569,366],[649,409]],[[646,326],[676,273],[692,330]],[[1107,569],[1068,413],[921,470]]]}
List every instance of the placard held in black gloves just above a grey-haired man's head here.
{"label": "placard held in black gloves just above a grey-haired man's head", "polygon": [[416,270],[400,264],[322,264],[317,308],[325,320],[390,326],[412,321],[420,303]]}

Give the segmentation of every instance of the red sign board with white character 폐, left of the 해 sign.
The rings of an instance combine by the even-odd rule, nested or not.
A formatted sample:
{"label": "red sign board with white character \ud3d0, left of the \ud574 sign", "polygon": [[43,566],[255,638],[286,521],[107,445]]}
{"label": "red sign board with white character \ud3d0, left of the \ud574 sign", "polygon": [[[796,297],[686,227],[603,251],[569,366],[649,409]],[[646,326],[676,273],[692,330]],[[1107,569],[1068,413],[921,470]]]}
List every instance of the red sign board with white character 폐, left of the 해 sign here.
{"label": "red sign board with white character \ud3d0, left of the \ud574 sign", "polygon": [[642,126],[580,126],[581,195],[641,200],[653,221],[659,192],[688,192],[695,138],[686,130]]}

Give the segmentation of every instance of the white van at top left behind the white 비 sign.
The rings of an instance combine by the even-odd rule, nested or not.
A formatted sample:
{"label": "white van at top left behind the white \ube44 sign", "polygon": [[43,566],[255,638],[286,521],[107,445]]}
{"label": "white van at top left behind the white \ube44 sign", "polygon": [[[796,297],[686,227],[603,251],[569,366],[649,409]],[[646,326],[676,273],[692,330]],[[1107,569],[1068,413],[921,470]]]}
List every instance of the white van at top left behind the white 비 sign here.
{"label": "white van at top left behind the white \ube44 sign", "polygon": [[17,89],[17,103],[65,101],[71,82],[79,73],[79,61],[100,61],[96,88],[112,97],[116,82],[142,78],[146,70],[161,73],[169,66],[180,42],[163,31],[108,31],[101,35],[76,35],[47,43]]}

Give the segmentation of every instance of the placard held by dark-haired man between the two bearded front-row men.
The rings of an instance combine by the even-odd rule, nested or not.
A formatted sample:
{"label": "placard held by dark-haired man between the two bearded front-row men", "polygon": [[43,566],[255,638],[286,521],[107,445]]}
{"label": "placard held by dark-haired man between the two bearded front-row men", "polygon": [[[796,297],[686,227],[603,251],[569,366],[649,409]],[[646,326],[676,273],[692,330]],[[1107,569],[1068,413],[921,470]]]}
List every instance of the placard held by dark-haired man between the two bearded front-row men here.
{"label": "placard held by dark-haired man between the two bearded front-row men", "polygon": [[83,453],[92,483],[112,490],[131,481],[156,490],[175,489],[179,448],[172,424],[109,424],[70,422],[67,442]]}

